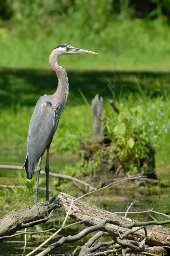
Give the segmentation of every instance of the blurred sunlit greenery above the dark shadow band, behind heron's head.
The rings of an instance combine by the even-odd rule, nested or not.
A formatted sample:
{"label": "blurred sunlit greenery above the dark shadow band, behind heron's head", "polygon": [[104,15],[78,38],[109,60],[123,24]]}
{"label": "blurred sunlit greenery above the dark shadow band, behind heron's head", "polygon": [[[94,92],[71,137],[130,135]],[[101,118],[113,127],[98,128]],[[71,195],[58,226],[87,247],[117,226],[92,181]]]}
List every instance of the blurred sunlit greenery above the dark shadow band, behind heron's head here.
{"label": "blurred sunlit greenery above the dark shadow band, behind heron's head", "polygon": [[66,43],[99,53],[62,57],[67,70],[170,69],[169,0],[3,3],[0,66],[48,68],[52,49]]}

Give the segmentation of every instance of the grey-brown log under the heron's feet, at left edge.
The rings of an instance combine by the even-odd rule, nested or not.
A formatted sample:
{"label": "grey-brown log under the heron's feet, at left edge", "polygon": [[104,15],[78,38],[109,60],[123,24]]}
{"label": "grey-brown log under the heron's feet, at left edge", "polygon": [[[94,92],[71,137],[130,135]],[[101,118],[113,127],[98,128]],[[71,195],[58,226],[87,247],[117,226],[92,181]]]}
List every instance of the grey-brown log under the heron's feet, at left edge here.
{"label": "grey-brown log under the heron's feet, at left edge", "polygon": [[[52,202],[52,200],[54,201],[55,197],[53,197],[50,200],[50,202]],[[14,209],[13,211],[1,217],[0,218],[0,241],[8,238],[9,235],[15,233],[18,230],[32,227],[40,223],[45,223],[52,216],[52,213],[54,212],[54,210],[56,209],[56,206],[58,205],[56,204],[58,203],[58,201],[54,201],[53,203],[50,204],[49,207],[45,206],[49,216],[47,216],[47,213],[41,206],[38,206],[39,208],[39,213],[38,213],[37,208],[34,205],[33,207],[28,206],[27,208],[21,209],[19,211]]]}

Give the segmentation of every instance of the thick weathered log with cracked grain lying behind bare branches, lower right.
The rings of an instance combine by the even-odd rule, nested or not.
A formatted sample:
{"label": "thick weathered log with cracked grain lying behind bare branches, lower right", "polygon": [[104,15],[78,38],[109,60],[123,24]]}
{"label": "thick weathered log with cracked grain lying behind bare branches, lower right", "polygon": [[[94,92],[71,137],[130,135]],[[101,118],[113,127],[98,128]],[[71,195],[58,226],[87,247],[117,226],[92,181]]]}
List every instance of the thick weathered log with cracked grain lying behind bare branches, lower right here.
{"label": "thick weathered log with cracked grain lying behind bare branches, lower right", "polygon": [[[60,196],[58,196],[58,198],[63,203],[66,212],[68,212],[72,199],[75,199],[75,198],[65,193],[61,193]],[[100,216],[108,213],[109,212],[105,210],[99,209],[83,201],[77,200],[73,203],[69,216],[75,219],[76,221],[83,221],[83,224],[86,226],[97,225],[102,220],[105,220],[105,219],[112,220],[113,224],[110,224],[110,223],[106,224],[106,227],[109,227],[115,232],[117,232],[119,228],[120,234],[123,234],[126,231],[130,230],[132,224],[136,224],[135,226],[138,226],[138,224],[139,226],[141,226],[141,224],[144,225],[140,221],[122,217],[118,214]],[[94,218],[92,219],[92,217]],[[120,225],[119,226],[116,225],[117,223],[119,223]],[[123,227],[123,226],[126,226],[126,227]],[[129,226],[129,228],[127,228],[127,226]],[[170,246],[170,229],[165,228],[163,226],[157,226],[157,224],[149,225],[146,227],[146,229],[147,229],[147,237],[146,237],[146,231],[144,229],[136,230],[133,233],[133,236],[137,238],[137,240],[139,241],[142,241],[146,237],[146,243],[150,245]]]}

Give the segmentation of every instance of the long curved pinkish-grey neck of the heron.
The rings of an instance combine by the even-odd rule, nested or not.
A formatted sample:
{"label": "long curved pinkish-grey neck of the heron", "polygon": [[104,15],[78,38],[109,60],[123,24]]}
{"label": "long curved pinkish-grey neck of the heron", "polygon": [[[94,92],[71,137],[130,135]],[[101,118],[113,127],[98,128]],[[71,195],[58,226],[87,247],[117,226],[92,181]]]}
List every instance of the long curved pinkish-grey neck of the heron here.
{"label": "long curved pinkish-grey neck of the heron", "polygon": [[56,52],[52,52],[49,58],[49,65],[52,71],[54,71],[58,78],[58,86],[57,90],[54,93],[54,98],[56,100],[56,104],[62,103],[65,106],[67,98],[68,98],[68,77],[67,72],[65,71],[64,67],[58,65],[58,55]]}

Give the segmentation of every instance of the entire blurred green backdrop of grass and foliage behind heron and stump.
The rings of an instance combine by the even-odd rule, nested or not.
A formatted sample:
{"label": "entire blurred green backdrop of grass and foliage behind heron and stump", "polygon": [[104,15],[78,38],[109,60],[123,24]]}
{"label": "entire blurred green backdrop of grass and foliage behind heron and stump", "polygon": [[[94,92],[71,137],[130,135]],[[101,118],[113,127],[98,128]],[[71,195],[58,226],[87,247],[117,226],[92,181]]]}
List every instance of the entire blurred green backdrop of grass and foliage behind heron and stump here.
{"label": "entire blurred green backdrop of grass and foliage behind heron and stump", "polygon": [[132,105],[146,113],[142,127],[167,178],[169,42],[169,0],[1,0],[0,163],[24,163],[36,101],[53,94],[58,83],[48,64],[50,53],[65,43],[99,55],[59,59],[68,73],[70,94],[51,144],[51,171],[78,159],[79,136],[92,132],[95,94],[104,97],[106,108],[112,97],[128,108],[132,95]]}

